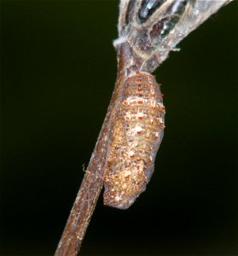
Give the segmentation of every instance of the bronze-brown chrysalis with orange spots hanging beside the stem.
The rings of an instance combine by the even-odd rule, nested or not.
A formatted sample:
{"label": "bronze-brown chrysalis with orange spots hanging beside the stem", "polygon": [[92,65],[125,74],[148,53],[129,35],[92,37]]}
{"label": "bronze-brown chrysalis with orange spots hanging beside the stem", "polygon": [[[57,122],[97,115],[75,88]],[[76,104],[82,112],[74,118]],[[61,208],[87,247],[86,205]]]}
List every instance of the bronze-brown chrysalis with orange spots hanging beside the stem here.
{"label": "bronze-brown chrysalis with orange spots hanging beside the stem", "polygon": [[149,73],[125,79],[111,121],[104,204],[126,209],[145,189],[163,137],[165,107]]}

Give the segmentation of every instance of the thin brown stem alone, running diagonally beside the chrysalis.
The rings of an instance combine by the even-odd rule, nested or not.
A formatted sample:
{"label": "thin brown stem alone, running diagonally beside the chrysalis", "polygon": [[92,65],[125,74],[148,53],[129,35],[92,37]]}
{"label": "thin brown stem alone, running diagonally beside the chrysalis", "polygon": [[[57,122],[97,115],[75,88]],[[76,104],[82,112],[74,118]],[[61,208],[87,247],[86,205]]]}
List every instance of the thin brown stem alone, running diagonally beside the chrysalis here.
{"label": "thin brown stem alone, running diagonally beside the chrysalis", "polygon": [[110,120],[113,116],[114,103],[119,95],[120,84],[122,84],[121,82],[125,78],[125,55],[123,54],[124,50],[120,49],[123,49],[123,46],[118,49],[119,72],[113,90],[113,96],[107,109],[102,130],[97,139],[96,148],[84,174],[83,182],[73,203],[73,208],[67,219],[67,224],[59,241],[55,256],[74,256],[78,254],[102,190],[105,165],[107,162],[108,133],[111,130]]}

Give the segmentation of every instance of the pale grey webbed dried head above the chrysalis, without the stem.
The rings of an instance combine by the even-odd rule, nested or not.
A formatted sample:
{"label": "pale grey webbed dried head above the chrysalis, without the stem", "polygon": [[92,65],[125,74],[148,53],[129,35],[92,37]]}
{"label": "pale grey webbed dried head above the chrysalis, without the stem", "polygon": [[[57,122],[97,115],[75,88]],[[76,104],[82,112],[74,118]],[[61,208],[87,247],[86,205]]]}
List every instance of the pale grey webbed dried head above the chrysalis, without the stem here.
{"label": "pale grey webbed dried head above the chrysalis, without the stem", "polygon": [[119,39],[113,44],[129,44],[133,65],[152,73],[183,38],[231,1],[121,0]]}

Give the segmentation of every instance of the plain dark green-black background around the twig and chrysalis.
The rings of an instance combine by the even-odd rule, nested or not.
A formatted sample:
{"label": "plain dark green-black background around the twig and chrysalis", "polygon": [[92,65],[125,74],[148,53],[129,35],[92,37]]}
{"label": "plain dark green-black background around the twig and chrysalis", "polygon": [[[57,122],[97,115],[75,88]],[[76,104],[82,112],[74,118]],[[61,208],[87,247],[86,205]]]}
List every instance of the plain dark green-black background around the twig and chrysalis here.
{"label": "plain dark green-black background around the twig and chrysalis", "polygon": [[[116,78],[118,1],[2,1],[1,255],[52,255]],[[81,255],[238,255],[237,2],[154,73],[165,137],[148,189],[102,205]]]}

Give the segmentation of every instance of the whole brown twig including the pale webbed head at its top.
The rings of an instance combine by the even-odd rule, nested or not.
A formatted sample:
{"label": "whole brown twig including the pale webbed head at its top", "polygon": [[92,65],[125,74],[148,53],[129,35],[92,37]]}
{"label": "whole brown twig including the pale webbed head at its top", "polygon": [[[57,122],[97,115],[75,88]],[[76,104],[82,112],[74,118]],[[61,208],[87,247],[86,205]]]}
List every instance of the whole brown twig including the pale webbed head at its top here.
{"label": "whole brown twig including the pale webbed head at its top", "polygon": [[[84,174],[55,256],[77,255],[82,245],[104,183],[110,139],[108,135],[113,129],[113,109],[125,78],[136,71],[153,72],[189,32],[231,0],[182,1],[185,8],[181,5],[179,7],[181,9],[171,8],[172,5],[179,3],[178,0],[164,1],[161,6],[157,4],[159,2],[163,1],[131,0],[120,3],[119,39],[114,42],[119,60],[117,82],[96,148]],[[154,3],[157,5],[153,7]],[[171,11],[173,13],[169,13]],[[139,12],[141,12],[141,23],[137,22]],[[167,26],[169,31],[165,31]],[[165,36],[163,32],[166,32]]]}

